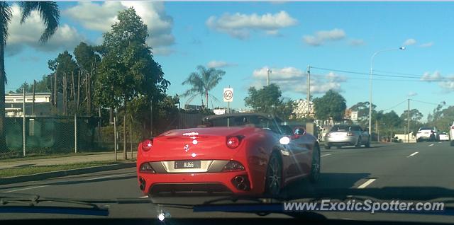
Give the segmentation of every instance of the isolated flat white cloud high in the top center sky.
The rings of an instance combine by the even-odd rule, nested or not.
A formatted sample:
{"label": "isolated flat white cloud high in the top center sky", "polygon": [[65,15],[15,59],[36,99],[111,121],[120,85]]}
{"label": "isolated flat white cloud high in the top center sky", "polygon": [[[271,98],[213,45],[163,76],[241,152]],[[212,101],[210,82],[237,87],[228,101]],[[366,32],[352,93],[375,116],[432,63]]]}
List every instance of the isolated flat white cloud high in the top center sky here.
{"label": "isolated flat white cloud high in the top center sky", "polygon": [[277,35],[279,29],[296,25],[298,21],[292,18],[286,11],[279,13],[266,13],[263,15],[225,13],[221,17],[210,16],[206,25],[218,32],[227,33],[232,37],[245,39],[250,36],[253,30],[262,30],[267,35]]}

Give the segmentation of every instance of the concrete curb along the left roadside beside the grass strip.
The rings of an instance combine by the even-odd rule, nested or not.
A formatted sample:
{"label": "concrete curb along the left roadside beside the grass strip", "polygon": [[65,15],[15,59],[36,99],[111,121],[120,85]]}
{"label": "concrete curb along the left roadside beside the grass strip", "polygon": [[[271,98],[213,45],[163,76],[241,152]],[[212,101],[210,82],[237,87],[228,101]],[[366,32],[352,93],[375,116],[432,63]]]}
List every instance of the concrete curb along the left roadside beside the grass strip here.
{"label": "concrete curb along the left roadside beside the grass strip", "polygon": [[106,166],[92,166],[86,168],[77,168],[72,170],[66,171],[52,171],[52,172],[45,172],[45,173],[35,173],[31,175],[19,175],[16,177],[9,177],[9,178],[0,178],[0,185],[8,185],[11,183],[22,183],[27,181],[36,181],[36,180],[44,180],[49,178],[59,178],[65,177],[67,175],[79,175],[84,173],[95,173],[100,171],[112,171],[112,170],[119,170],[123,168],[132,168],[135,167],[134,163],[118,163]]}

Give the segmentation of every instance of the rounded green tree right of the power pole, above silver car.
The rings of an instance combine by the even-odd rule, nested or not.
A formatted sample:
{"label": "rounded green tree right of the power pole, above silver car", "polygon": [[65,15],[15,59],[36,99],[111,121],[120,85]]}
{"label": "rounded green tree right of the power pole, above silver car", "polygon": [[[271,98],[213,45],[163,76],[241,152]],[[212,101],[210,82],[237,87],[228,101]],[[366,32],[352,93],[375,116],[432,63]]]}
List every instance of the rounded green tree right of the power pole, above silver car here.
{"label": "rounded green tree right of the power pole, above silver car", "polygon": [[315,116],[319,120],[332,119],[339,122],[343,120],[346,108],[345,98],[333,90],[327,91],[321,98],[314,99]]}

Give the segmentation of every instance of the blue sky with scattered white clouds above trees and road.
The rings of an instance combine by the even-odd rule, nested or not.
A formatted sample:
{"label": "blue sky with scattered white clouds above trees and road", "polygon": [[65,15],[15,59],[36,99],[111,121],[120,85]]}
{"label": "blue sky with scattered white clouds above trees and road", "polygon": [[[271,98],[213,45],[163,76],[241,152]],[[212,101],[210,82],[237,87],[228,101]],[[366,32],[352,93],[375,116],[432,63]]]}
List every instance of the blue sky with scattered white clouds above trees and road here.
{"label": "blue sky with scattered white clouds above trees and road", "polygon": [[381,50],[389,51],[377,53],[372,64],[378,110],[400,115],[411,98],[411,108],[426,117],[442,101],[454,105],[454,3],[59,2],[60,28],[44,45],[38,42],[44,30],[39,14],[21,25],[19,8],[11,5],[6,91],[49,74],[48,60],[73,52],[81,41],[101,44],[118,11],[132,6],[148,25],[147,43],[171,82],[169,95],[189,88],[182,81],[198,65],[226,71],[211,91],[220,101],[210,100],[210,108],[226,106],[222,92],[228,86],[234,90],[231,108],[245,108],[248,88],[265,85],[267,69],[284,99],[306,98],[308,66],[312,97],[333,89],[348,107],[368,101],[371,57]]}

